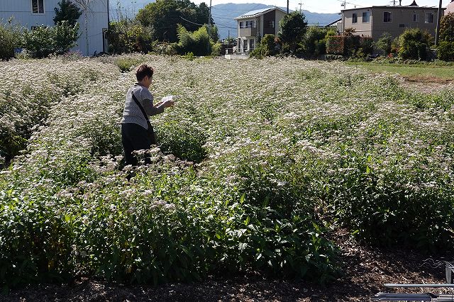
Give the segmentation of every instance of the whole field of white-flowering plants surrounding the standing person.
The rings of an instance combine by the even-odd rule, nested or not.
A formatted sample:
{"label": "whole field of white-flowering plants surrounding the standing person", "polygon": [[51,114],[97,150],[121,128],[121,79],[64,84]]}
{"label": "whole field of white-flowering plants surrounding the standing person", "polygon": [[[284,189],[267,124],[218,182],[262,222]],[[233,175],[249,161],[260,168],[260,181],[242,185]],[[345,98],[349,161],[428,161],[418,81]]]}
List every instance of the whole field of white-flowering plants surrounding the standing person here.
{"label": "whole field of white-flowering plants surrounding the standing person", "polygon": [[[118,123],[135,73],[118,65],[140,62],[156,99],[179,99],[128,181]],[[11,60],[0,79],[1,286],[249,269],[325,282],[340,227],[454,247],[454,88],[338,62],[140,55]]]}

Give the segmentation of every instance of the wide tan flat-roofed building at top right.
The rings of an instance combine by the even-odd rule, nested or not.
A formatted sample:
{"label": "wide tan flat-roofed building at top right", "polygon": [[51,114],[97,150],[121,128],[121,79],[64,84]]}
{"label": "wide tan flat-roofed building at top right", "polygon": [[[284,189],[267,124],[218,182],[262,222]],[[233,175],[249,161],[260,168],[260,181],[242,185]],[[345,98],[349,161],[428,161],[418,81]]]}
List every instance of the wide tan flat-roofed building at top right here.
{"label": "wide tan flat-roofed building at top right", "polygon": [[[402,1],[399,1],[402,4]],[[444,8],[442,9],[445,10]],[[354,28],[355,35],[369,36],[377,41],[383,33],[398,37],[407,28],[421,28],[435,36],[438,7],[418,6],[413,1],[409,6],[370,6],[341,11],[338,31]]]}

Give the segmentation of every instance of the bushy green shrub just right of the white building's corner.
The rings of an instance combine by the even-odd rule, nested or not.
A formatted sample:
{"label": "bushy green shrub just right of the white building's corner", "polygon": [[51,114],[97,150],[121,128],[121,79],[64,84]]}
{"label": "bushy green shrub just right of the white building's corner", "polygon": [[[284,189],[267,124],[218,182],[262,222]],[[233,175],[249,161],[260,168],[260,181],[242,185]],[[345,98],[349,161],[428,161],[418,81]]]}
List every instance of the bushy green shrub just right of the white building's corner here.
{"label": "bushy green shrub just right of the white building's corner", "polygon": [[148,53],[153,50],[153,26],[142,26],[138,21],[122,20],[111,22],[107,37],[109,52],[116,54],[129,52]]}

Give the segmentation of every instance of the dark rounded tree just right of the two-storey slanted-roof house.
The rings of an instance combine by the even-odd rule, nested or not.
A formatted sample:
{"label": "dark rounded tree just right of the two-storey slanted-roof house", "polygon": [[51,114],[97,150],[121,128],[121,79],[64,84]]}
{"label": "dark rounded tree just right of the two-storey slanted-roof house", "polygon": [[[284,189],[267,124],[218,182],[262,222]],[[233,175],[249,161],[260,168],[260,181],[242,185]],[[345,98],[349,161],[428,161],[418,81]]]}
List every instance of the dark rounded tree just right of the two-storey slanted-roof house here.
{"label": "dark rounded tree just right of the two-storey slanted-roof house", "polygon": [[307,29],[306,17],[303,13],[294,11],[285,15],[279,21],[279,38],[283,45],[287,45],[290,52],[295,52],[297,44],[301,42]]}

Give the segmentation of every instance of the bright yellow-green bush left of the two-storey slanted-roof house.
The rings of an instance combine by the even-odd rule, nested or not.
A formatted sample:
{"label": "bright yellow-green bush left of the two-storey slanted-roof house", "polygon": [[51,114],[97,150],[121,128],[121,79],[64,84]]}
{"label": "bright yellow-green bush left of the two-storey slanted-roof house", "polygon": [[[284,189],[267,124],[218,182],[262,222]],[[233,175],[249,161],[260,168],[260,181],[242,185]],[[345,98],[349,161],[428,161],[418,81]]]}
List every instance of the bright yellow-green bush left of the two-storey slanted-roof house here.
{"label": "bright yellow-green bush left of the two-storey slanted-roof house", "polygon": [[184,55],[192,52],[194,55],[210,55],[211,43],[206,26],[202,26],[194,32],[189,32],[182,25],[178,26],[177,52]]}

